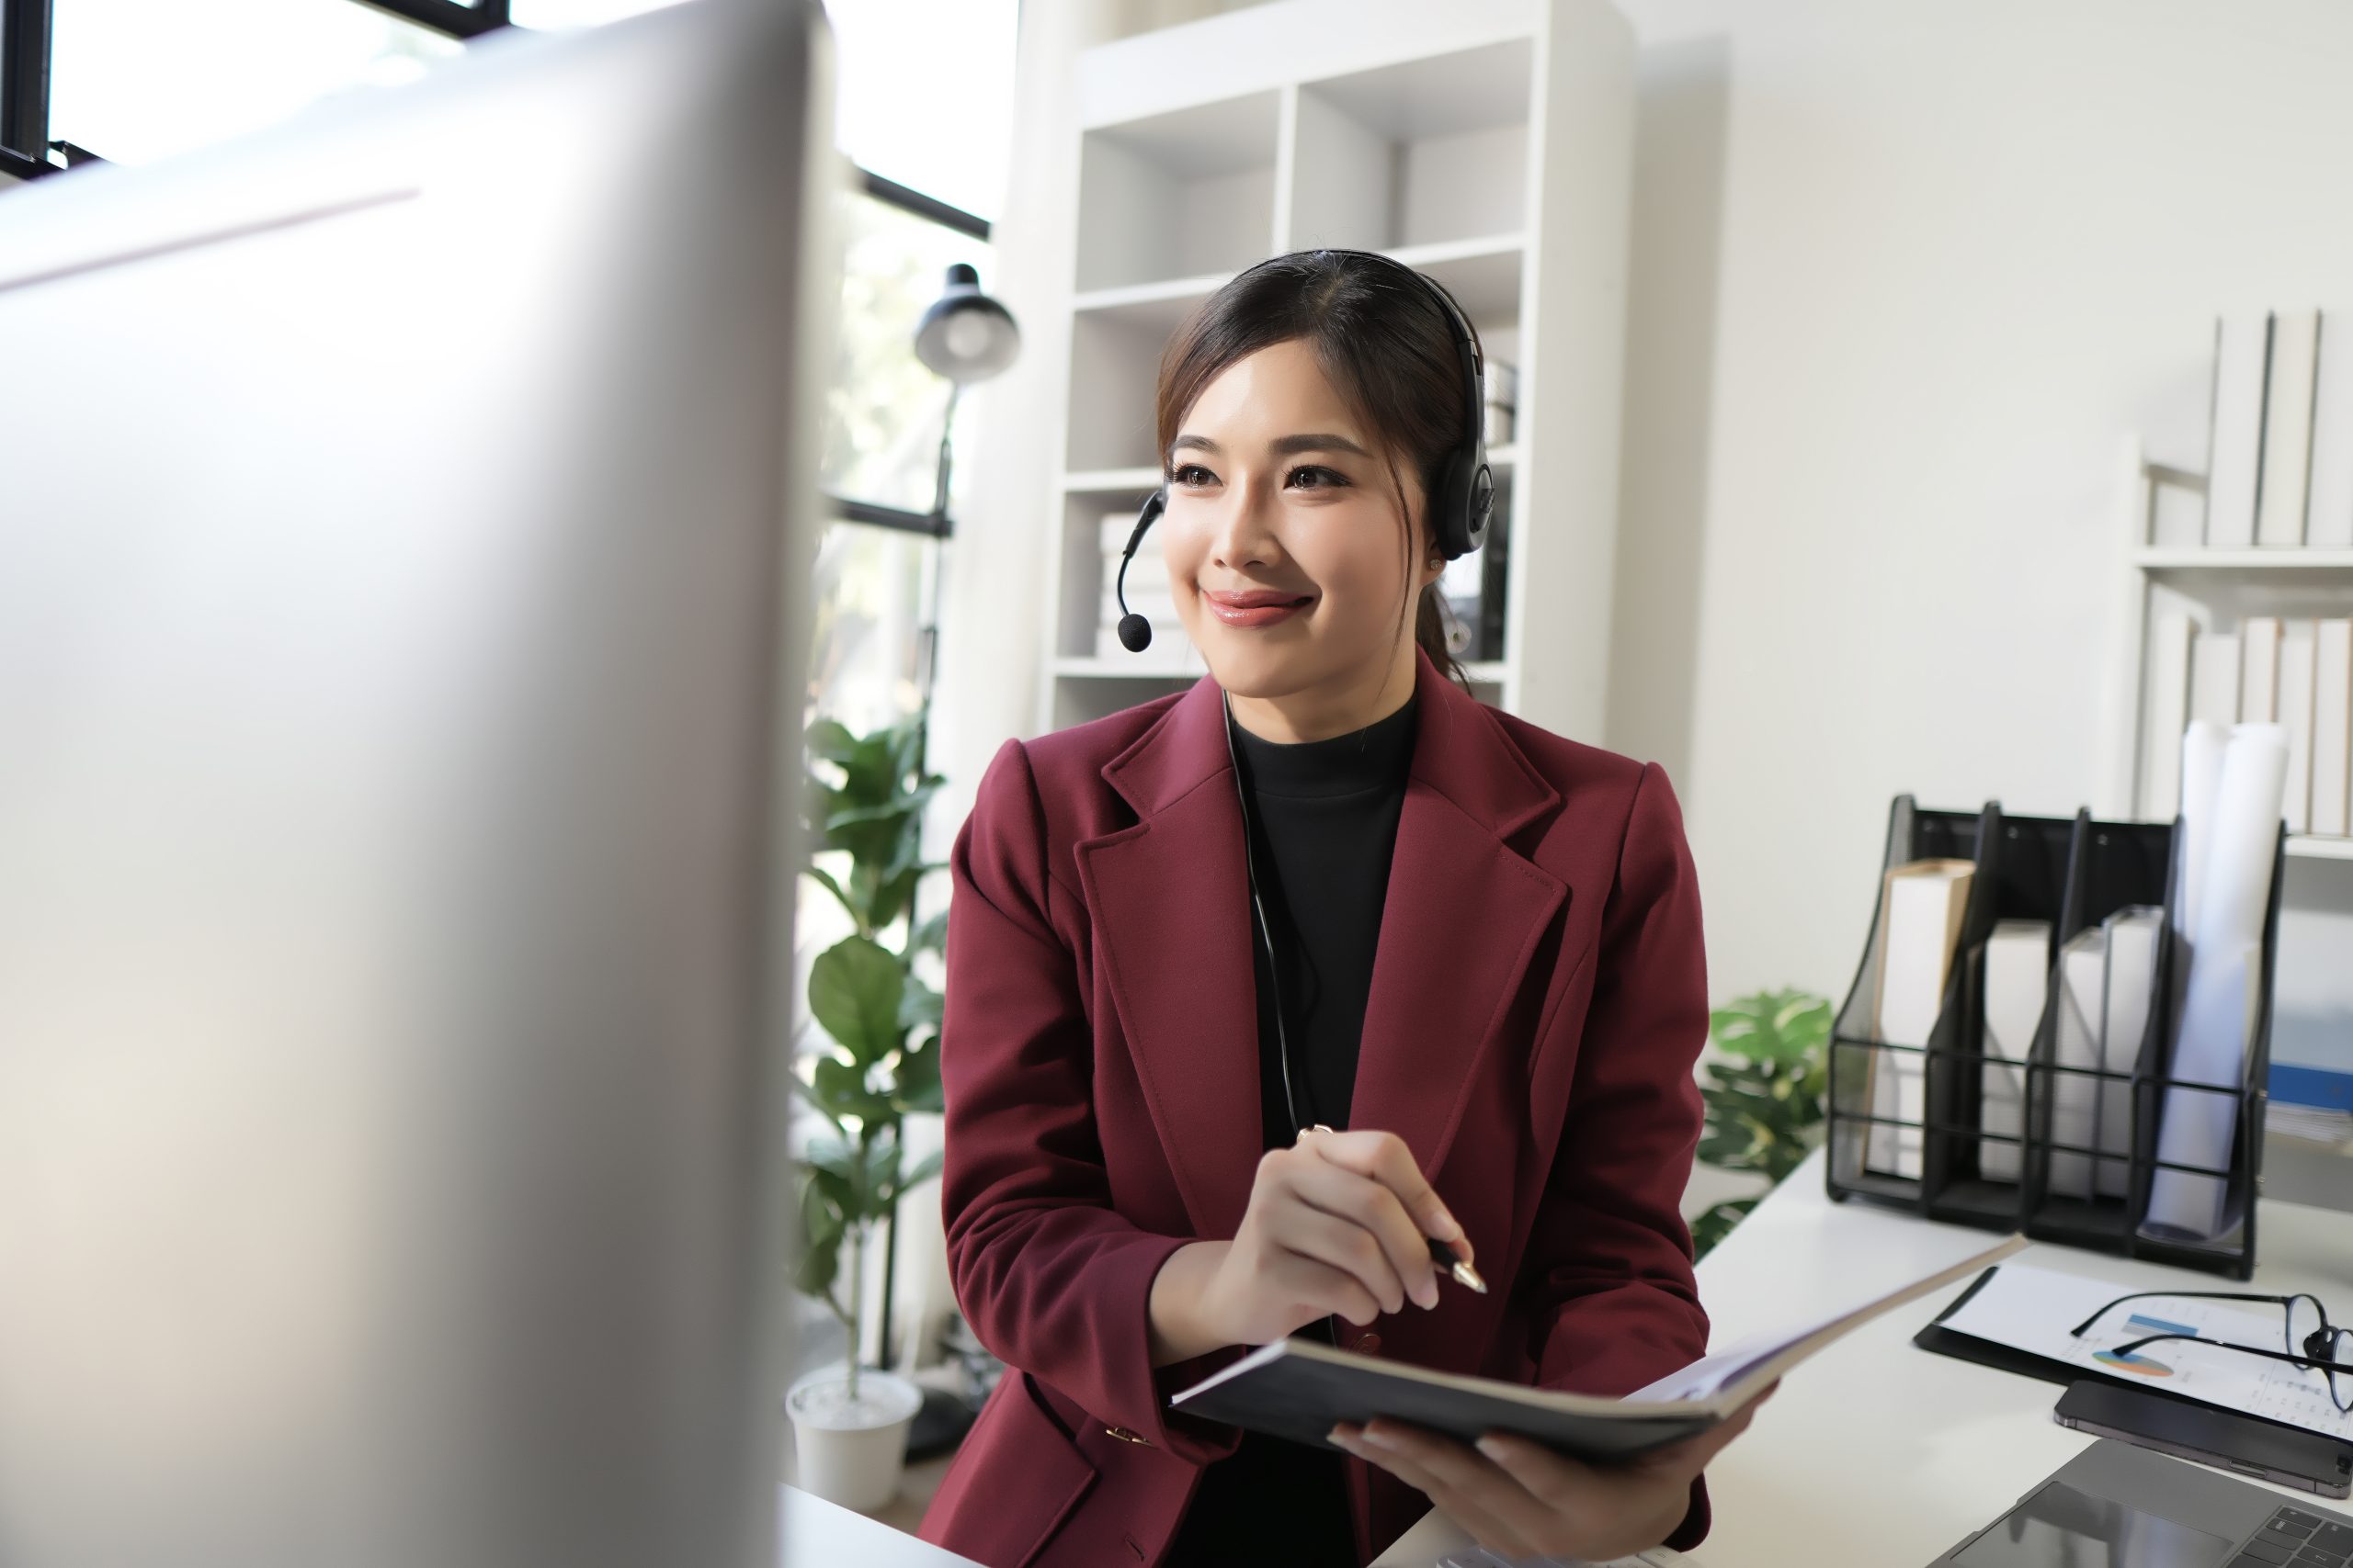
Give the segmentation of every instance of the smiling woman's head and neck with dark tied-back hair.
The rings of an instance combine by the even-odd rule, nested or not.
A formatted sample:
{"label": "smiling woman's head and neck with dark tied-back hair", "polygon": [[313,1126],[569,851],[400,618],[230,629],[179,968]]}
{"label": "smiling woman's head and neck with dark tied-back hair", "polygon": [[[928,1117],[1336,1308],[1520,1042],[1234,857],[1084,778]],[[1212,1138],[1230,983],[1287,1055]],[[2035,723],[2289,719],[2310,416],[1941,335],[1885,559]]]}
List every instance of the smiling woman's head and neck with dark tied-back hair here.
{"label": "smiling woman's head and neck with dark tied-back hair", "polygon": [[1247,731],[1315,741],[1386,717],[1417,644],[1464,679],[1428,527],[1466,461],[1459,334],[1475,360],[1471,324],[1398,263],[1299,252],[1235,277],[1169,343],[1162,555]]}

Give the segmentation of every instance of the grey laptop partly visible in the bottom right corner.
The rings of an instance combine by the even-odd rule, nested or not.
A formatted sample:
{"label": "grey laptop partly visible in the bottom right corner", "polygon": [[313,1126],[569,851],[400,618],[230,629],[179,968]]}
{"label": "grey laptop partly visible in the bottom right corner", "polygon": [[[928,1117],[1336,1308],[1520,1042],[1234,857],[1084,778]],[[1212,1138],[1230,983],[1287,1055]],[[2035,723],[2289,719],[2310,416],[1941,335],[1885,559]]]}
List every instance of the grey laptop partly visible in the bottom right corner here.
{"label": "grey laptop partly visible in the bottom right corner", "polygon": [[2348,1568],[2353,1516],[2099,1439],[1929,1568]]}

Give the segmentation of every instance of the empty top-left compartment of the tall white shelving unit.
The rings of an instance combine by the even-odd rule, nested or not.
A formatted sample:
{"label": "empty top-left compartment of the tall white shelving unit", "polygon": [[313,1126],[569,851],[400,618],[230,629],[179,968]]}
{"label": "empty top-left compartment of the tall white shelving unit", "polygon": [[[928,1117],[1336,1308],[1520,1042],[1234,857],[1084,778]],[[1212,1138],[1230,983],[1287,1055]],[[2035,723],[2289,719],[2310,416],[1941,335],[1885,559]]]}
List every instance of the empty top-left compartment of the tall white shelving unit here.
{"label": "empty top-left compartment of the tall white shelving unit", "polygon": [[1280,92],[1254,92],[1085,132],[1078,292],[1233,273],[1266,256],[1280,110]]}

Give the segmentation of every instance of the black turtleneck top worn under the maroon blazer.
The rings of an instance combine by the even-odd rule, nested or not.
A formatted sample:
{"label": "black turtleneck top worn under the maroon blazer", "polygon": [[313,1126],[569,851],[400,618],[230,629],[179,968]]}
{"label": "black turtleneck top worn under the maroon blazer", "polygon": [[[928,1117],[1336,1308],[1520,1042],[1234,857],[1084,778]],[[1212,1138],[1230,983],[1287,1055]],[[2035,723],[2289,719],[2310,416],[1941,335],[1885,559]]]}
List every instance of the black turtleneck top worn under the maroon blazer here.
{"label": "black turtleneck top worn under the maroon blazer", "polygon": [[[1259,983],[1259,1124],[1264,1147],[1289,1147],[1299,1126],[1348,1126],[1365,994],[1398,846],[1405,773],[1414,759],[1414,698],[1386,719],[1329,741],[1264,741],[1233,722],[1238,788],[1249,806],[1259,900],[1282,980],[1299,1121],[1282,1095],[1275,987],[1252,940]],[[1238,910],[1249,919],[1249,907]],[[1301,1328],[1325,1342],[1332,1319]],[[1219,1563],[1355,1563],[1341,1455],[1245,1432],[1207,1467],[1169,1547],[1167,1568]]]}

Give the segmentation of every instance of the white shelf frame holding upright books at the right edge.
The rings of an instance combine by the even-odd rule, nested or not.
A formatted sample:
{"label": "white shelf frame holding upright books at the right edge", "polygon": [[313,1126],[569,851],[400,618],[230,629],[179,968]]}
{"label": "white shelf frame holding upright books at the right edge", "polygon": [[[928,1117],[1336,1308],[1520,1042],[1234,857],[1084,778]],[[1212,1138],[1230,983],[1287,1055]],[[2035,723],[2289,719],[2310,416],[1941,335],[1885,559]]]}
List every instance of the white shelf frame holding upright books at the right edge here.
{"label": "white shelf frame holding upright books at the right edge", "polygon": [[[2104,705],[2106,769],[2094,811],[2108,820],[2169,820],[2172,804],[2151,799],[2141,778],[2151,712],[2148,628],[2165,611],[2181,611],[2200,630],[2217,632],[2235,632],[2247,616],[2353,616],[2353,550],[2207,550],[2167,541],[2160,520],[2193,517],[2205,496],[2205,475],[2151,463],[2137,435],[2127,435],[2118,449],[2115,489],[2122,564]],[[2181,505],[2167,505],[2169,501]],[[2289,835],[2287,853],[2304,860],[2353,860],[2353,839],[2299,832]]]}

